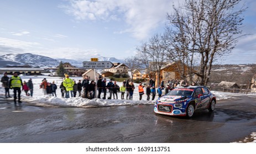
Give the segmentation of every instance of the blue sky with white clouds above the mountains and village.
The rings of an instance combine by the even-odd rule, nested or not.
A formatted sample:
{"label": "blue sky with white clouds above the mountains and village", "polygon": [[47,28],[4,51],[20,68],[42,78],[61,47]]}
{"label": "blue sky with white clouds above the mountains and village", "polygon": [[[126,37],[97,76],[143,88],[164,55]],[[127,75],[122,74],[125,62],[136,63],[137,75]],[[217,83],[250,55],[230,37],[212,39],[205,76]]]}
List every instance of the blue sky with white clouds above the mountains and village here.
{"label": "blue sky with white clouds above the mountains and village", "polygon": [[[163,32],[174,0],[0,0],[0,55],[51,58],[134,56],[135,48]],[[256,1],[243,1],[244,34],[224,63],[256,63]]]}

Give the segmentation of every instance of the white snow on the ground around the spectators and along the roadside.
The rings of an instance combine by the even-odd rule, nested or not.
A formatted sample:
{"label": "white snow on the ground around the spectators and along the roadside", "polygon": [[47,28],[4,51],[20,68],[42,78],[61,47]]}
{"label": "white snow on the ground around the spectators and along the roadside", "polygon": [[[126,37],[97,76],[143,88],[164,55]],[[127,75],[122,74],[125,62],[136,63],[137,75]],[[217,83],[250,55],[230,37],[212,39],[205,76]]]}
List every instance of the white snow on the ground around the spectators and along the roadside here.
{"label": "white snow on the ground around the spectators and along the roadside", "polygon": [[[3,75],[0,75],[0,78],[2,78]],[[8,75],[11,77],[10,75]],[[154,101],[147,101],[147,95],[143,95],[142,100],[139,100],[139,92],[138,92],[138,84],[134,84],[134,94],[133,94],[133,100],[121,100],[121,93],[118,93],[118,100],[103,100],[94,98],[92,100],[88,100],[82,97],[72,97],[72,98],[61,98],[61,92],[60,92],[60,84],[62,82],[62,78],[59,77],[51,77],[51,76],[45,76],[45,75],[39,75],[39,76],[20,76],[22,78],[22,81],[28,82],[30,78],[32,78],[32,82],[34,84],[34,92],[33,97],[31,96],[25,96],[25,92],[22,91],[21,101],[28,103],[29,105],[35,105],[35,106],[42,106],[42,107],[109,107],[109,106],[127,106],[127,105],[150,105],[154,104],[154,101],[158,98],[158,95],[156,94]],[[40,89],[40,84],[42,80],[46,78],[46,80],[49,83],[52,83],[55,81],[55,84],[58,86],[58,89],[56,90],[57,97],[44,95],[42,89]],[[75,80],[76,83],[78,83],[78,80],[82,80],[81,77],[71,77],[71,79]],[[1,83],[2,84],[2,83]],[[122,83],[118,83],[117,85],[121,86]],[[144,88],[145,92],[145,88]],[[78,93],[78,92],[77,92]],[[164,90],[163,90],[164,93]],[[231,99],[234,96],[241,96],[245,94],[237,94],[237,93],[229,93],[229,92],[220,92],[220,91],[212,91],[213,94],[216,95],[217,100],[226,100]],[[10,90],[11,96],[13,95],[13,90]],[[2,86],[0,86],[0,95],[4,95],[4,89]],[[109,96],[109,92],[107,92],[107,97]],[[103,94],[101,95],[103,97]],[[126,98],[126,94],[124,95],[124,98]],[[7,98],[8,101],[12,101],[13,98]],[[150,96],[151,100],[151,96]],[[251,134],[251,140],[252,142],[256,142],[256,133]],[[246,140],[246,138],[245,138]],[[241,141],[242,142],[242,141]],[[251,141],[250,141],[251,142]]]}

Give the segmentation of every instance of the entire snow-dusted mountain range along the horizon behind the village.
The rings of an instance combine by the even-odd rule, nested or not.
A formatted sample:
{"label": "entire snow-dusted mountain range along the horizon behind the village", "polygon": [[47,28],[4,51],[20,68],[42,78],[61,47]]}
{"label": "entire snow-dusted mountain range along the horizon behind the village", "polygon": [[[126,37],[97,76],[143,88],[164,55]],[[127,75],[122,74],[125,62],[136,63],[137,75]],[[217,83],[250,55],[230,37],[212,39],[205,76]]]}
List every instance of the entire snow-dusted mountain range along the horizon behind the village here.
{"label": "entire snow-dusted mountain range along the horizon behind the village", "polygon": [[[56,67],[60,64],[60,61],[69,62],[75,67],[82,67],[82,62],[90,61],[91,59],[74,60],[74,59],[53,59],[46,56],[40,56],[32,53],[22,54],[5,54],[0,56],[0,67],[14,67],[14,66],[30,66],[40,68],[51,68]],[[123,60],[116,59],[114,57],[98,57],[99,61],[110,61],[112,63],[124,63]]]}

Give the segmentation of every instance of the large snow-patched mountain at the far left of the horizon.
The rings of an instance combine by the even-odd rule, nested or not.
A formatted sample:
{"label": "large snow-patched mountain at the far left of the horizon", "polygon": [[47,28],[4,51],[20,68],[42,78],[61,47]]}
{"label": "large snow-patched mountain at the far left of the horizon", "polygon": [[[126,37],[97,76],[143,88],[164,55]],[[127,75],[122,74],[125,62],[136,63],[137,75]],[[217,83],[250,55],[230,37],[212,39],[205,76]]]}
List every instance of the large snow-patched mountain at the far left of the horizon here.
{"label": "large snow-patched mountain at the far left of the horizon", "polygon": [[56,59],[32,53],[5,54],[0,56],[0,63],[1,67],[29,65],[30,67],[48,68],[59,65]]}

